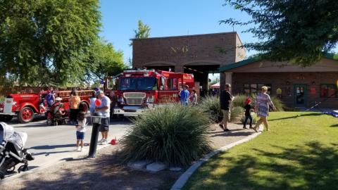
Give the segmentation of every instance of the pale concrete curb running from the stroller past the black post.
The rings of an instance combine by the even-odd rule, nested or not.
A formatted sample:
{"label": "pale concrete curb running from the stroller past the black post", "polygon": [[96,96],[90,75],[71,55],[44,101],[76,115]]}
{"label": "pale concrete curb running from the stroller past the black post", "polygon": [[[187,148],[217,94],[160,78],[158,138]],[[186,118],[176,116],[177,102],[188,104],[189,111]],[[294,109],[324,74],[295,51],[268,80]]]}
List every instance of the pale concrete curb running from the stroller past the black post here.
{"label": "pale concrete curb running from the stroller past the black post", "polygon": [[[98,147],[96,148],[96,151],[99,151],[99,150],[101,150],[102,148],[106,148],[106,147],[108,147],[108,146],[111,146],[111,144],[102,145],[102,146],[100,146],[100,147],[98,146]],[[89,150],[89,149],[88,149],[88,150]],[[17,174],[15,174],[15,175],[10,175],[10,176],[5,177],[4,179],[2,179],[2,180],[0,181],[0,184],[1,184],[1,182],[8,182],[9,180],[17,179],[18,177],[23,177],[24,175],[32,174],[32,173],[35,172],[35,171],[44,170],[44,169],[46,169],[46,168],[48,168],[48,167],[51,167],[52,165],[58,165],[58,164],[64,163],[65,161],[68,161],[68,160],[70,160],[70,159],[82,158],[83,156],[88,156],[87,151],[86,151],[86,152],[83,152],[83,153],[80,153],[79,155],[74,156],[73,158],[67,158],[67,159],[61,158],[61,159],[59,159],[59,160],[56,160],[56,161],[54,160],[54,161],[51,161],[51,162],[49,162],[49,163],[45,163],[44,165],[40,165],[40,166],[35,167],[35,168],[31,169],[31,170],[27,170],[27,171],[25,171],[25,172],[20,172],[20,173],[17,173]],[[85,158],[85,157],[84,157],[84,158]]]}

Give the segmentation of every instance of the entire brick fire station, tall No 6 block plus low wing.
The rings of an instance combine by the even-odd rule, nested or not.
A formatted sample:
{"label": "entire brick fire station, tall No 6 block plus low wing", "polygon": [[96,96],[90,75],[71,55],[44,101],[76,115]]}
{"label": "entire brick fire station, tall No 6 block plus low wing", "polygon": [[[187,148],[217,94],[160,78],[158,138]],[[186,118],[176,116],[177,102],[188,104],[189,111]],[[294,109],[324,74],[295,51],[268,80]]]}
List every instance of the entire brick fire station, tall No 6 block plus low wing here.
{"label": "entire brick fire station, tall No 6 block plus low wing", "polygon": [[261,58],[244,60],[237,32],[132,39],[133,68],[194,74],[197,86],[208,89],[208,74],[220,72],[220,89],[232,84],[233,94],[255,94],[263,85],[289,107],[338,108],[338,61],[325,56],[311,67]]}

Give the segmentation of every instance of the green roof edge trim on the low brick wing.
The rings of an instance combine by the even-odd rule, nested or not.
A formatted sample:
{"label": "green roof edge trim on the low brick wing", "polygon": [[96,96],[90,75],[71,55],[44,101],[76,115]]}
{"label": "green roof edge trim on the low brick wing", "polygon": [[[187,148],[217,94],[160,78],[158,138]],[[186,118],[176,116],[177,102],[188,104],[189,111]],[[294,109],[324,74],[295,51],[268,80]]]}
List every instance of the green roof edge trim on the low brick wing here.
{"label": "green roof edge trim on the low brick wing", "polygon": [[[338,54],[334,54],[334,53],[326,53],[324,58],[328,58],[328,59],[332,59],[334,61],[338,61]],[[255,63],[257,61],[262,61],[263,57],[262,56],[256,56],[256,57],[252,57],[252,58],[247,58],[244,59],[243,61],[239,61],[236,63],[231,63],[229,65],[223,65],[221,66],[218,70],[220,72],[225,72],[227,70],[231,70],[233,68],[239,68],[242,67],[244,65],[249,65],[250,63]]]}

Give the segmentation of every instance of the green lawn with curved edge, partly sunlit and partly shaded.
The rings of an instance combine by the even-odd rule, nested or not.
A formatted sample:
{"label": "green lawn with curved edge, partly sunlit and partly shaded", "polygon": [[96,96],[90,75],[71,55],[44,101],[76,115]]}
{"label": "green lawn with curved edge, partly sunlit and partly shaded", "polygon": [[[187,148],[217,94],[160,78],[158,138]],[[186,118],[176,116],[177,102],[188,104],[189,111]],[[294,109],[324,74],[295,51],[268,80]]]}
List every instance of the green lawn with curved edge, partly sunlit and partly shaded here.
{"label": "green lawn with curved edge, partly sunlit and partly shaded", "polygon": [[270,131],[220,153],[184,189],[338,189],[338,118],[270,113]]}

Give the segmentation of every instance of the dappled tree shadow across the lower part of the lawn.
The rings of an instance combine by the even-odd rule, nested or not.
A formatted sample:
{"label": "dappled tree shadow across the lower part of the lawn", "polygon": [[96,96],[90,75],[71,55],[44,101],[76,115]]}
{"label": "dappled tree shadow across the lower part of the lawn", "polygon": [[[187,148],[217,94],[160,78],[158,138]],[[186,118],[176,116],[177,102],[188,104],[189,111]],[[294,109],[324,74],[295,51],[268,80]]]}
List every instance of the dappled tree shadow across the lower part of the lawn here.
{"label": "dappled tree shadow across the lower part of the lawn", "polygon": [[[254,154],[227,158],[226,172],[208,173],[204,189],[337,189],[337,147],[311,141],[305,146],[275,148],[278,153],[253,149]],[[214,163],[208,170],[221,167],[219,157]]]}

